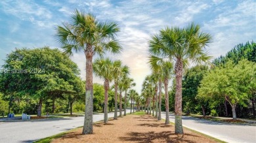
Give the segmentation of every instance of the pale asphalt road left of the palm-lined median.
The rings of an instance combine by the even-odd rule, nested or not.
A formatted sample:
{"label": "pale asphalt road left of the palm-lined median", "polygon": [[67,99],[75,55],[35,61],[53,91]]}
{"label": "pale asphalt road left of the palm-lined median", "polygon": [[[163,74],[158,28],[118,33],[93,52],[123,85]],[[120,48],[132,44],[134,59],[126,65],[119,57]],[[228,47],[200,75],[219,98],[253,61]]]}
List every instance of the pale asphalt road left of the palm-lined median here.
{"label": "pale asphalt road left of the palm-lined median", "polygon": [[[127,110],[129,114],[130,111]],[[119,115],[119,112],[117,112]],[[114,117],[114,112],[108,118]],[[93,122],[104,119],[104,114],[94,114]],[[0,122],[0,142],[33,142],[83,125],[84,117],[41,119],[32,121]]]}

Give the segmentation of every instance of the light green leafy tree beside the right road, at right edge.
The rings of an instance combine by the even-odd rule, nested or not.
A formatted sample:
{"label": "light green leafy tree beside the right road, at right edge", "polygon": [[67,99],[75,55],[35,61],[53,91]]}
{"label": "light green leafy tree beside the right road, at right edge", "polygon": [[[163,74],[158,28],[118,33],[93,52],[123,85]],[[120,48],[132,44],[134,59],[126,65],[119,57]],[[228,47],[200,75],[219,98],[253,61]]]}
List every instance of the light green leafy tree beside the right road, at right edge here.
{"label": "light green leafy tree beside the right road, at right edge", "polygon": [[243,59],[235,65],[228,61],[226,65],[216,67],[203,77],[198,96],[223,98],[232,107],[233,119],[236,119],[236,105],[247,106],[251,89],[256,88],[256,64]]}

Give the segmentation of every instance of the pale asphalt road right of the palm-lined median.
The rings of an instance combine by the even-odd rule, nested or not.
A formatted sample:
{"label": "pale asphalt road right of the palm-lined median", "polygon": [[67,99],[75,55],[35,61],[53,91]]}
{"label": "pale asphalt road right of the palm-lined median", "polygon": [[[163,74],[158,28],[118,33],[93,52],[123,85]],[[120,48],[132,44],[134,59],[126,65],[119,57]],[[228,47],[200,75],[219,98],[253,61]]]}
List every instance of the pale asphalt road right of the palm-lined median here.
{"label": "pale asphalt road right of the palm-lined median", "polygon": [[[165,113],[161,114],[161,118],[165,119]],[[173,114],[170,114],[170,121],[175,122]],[[256,126],[252,125],[219,123],[189,116],[182,116],[182,125],[225,142],[256,142]]]}

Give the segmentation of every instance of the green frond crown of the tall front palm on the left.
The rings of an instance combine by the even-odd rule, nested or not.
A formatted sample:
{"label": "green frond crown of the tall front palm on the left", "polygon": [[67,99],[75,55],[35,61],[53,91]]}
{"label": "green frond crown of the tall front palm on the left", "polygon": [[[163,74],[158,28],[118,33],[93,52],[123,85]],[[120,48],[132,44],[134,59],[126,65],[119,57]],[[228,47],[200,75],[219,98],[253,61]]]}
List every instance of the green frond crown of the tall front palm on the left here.
{"label": "green frond crown of the tall front palm on the left", "polygon": [[65,54],[72,51],[85,52],[87,46],[93,47],[93,54],[102,56],[110,51],[114,54],[121,52],[121,46],[116,40],[119,27],[114,22],[98,22],[93,14],[85,14],[75,10],[70,23],[56,27],[56,40],[62,44]]}

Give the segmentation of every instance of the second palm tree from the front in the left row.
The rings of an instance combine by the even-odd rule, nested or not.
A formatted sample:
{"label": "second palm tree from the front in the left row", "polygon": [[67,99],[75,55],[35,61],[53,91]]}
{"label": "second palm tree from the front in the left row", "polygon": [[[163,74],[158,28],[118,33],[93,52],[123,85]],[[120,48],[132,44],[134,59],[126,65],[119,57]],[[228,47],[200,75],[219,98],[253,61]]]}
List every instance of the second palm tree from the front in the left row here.
{"label": "second palm tree from the front in the left row", "polygon": [[93,63],[93,72],[95,75],[104,78],[104,123],[108,123],[108,89],[113,79],[113,62],[109,59],[95,59]]}

